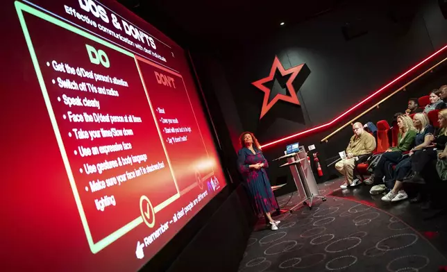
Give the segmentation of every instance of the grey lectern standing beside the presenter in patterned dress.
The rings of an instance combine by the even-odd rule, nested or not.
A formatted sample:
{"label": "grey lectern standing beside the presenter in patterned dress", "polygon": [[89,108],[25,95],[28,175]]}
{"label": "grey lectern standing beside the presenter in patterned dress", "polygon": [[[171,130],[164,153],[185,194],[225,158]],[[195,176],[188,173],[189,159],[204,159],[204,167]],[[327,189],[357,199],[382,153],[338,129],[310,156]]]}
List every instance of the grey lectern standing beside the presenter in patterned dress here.
{"label": "grey lectern standing beside the presenter in patterned dress", "polygon": [[[322,201],[326,201],[325,196],[319,195],[317,182],[315,181],[314,173],[312,172],[312,167],[310,167],[310,163],[307,160],[307,154],[302,146],[300,146],[300,151],[283,155],[275,160],[284,159],[287,159],[287,163],[280,165],[280,167],[290,168],[298,194],[300,196],[305,196],[303,205],[307,205],[310,210],[312,209],[312,202],[314,201],[314,198],[321,198]],[[292,213],[298,205],[292,207],[290,212]]]}

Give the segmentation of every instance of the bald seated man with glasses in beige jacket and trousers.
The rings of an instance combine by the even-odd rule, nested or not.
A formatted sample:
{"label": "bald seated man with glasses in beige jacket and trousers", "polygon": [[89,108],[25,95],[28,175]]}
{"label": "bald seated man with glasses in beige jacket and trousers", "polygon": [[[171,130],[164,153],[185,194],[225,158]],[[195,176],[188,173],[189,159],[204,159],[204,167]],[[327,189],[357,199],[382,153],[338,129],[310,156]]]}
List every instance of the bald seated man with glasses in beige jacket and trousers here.
{"label": "bald seated man with glasses in beige jacket and trousers", "polygon": [[344,185],[340,186],[342,189],[346,189],[348,185],[355,186],[360,183],[360,180],[353,183],[355,160],[358,159],[358,156],[369,155],[376,149],[376,139],[373,135],[364,131],[361,123],[353,124],[353,131],[354,135],[346,148],[346,158],[335,164],[335,169],[346,179]]}

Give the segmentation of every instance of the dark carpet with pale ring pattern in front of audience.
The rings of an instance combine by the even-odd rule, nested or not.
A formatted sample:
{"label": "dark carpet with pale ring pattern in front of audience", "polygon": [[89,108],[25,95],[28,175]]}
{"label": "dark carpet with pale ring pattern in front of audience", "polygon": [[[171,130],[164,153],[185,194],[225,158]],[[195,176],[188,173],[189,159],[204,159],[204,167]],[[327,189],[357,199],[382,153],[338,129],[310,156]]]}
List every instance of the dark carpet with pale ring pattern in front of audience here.
{"label": "dark carpet with pale ring pattern in front of audience", "polygon": [[[291,205],[299,202],[292,199]],[[395,216],[345,198],[328,196],[312,210],[302,207],[277,220],[279,230],[263,226],[252,233],[239,271],[435,272],[447,264]]]}

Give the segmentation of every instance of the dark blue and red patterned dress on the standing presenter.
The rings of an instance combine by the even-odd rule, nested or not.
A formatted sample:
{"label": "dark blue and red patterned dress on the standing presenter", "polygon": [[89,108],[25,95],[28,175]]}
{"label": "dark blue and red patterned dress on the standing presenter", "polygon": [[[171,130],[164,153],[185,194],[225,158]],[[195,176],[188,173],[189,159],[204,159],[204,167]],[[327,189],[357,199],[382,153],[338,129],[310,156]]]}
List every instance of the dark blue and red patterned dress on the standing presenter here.
{"label": "dark blue and red patterned dress on the standing presenter", "polygon": [[[265,160],[262,151],[254,148],[256,154],[244,147],[238,152],[237,165],[239,171],[244,176],[251,196],[256,212],[258,214],[264,214],[278,209],[278,202],[273,195],[269,177],[264,167],[269,167],[269,163]],[[264,163],[264,167],[261,169],[250,169],[250,164]]]}

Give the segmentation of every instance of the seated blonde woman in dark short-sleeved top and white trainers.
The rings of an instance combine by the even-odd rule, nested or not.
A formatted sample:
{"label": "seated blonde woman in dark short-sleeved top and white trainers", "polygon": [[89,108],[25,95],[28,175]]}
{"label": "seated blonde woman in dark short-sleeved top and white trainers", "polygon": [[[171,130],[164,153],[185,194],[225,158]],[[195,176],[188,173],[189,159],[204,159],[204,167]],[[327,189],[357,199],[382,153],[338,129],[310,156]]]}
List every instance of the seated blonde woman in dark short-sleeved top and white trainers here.
{"label": "seated blonde woman in dark short-sleeved top and white trainers", "polygon": [[394,169],[394,171],[392,167],[385,169],[385,171],[392,171],[392,173],[389,173],[389,176],[393,176],[396,182],[394,183],[393,189],[391,189],[386,196],[382,197],[382,201],[396,202],[408,198],[407,193],[402,189],[402,181],[411,172],[411,156],[413,153],[423,152],[423,149],[431,143],[431,136],[435,132],[435,128],[430,125],[427,115],[423,113],[414,114],[413,124],[414,128],[416,128],[416,138],[414,140],[416,146],[410,151],[410,157],[401,160],[396,165],[396,169]]}

